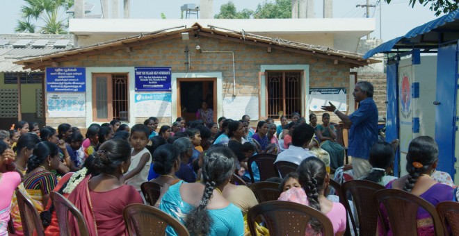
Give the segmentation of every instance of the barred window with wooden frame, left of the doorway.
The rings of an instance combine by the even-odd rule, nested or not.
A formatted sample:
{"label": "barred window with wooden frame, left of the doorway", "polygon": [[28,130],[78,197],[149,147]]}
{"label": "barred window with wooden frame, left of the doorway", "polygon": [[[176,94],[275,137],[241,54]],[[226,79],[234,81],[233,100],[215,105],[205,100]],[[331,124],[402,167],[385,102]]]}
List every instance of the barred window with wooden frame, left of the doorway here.
{"label": "barred window with wooden frame, left of the doorway", "polygon": [[129,121],[127,74],[92,75],[92,117],[95,121]]}

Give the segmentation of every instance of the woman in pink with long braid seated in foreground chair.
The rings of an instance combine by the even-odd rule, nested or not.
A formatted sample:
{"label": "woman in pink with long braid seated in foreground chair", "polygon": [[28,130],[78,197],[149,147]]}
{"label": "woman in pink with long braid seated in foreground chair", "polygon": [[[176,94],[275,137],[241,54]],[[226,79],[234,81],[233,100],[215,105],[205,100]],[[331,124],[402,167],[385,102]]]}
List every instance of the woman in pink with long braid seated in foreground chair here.
{"label": "woman in pink with long braid seated in foreground chair", "polygon": [[[280,201],[293,201],[308,205],[325,214],[332,222],[333,233],[343,235],[346,230],[346,209],[341,203],[334,203],[323,195],[330,183],[325,164],[315,157],[306,158],[296,170],[301,187],[292,187],[280,194]],[[306,235],[321,235],[322,226],[318,221],[309,221]]]}

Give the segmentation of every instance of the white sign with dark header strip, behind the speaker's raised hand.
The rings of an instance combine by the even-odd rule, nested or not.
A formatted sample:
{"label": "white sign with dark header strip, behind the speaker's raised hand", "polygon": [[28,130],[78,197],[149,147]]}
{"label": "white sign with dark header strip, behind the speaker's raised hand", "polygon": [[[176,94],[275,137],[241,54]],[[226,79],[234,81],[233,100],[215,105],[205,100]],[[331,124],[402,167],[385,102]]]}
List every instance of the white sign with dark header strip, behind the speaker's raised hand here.
{"label": "white sign with dark header strip, behind the speaker's raised hand", "polygon": [[346,111],[346,88],[311,88],[309,89],[309,110],[323,111],[321,106],[330,106],[331,102],[341,112]]}

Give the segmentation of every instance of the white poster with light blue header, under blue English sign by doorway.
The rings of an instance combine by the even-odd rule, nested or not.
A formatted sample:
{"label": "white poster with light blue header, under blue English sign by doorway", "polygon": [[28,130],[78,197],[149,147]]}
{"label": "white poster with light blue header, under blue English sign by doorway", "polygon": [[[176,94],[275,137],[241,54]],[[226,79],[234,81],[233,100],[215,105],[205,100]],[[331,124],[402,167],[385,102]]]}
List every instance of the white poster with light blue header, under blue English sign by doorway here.
{"label": "white poster with light blue header, under blue English sign by doorway", "polygon": [[136,117],[172,117],[170,92],[136,93]]}

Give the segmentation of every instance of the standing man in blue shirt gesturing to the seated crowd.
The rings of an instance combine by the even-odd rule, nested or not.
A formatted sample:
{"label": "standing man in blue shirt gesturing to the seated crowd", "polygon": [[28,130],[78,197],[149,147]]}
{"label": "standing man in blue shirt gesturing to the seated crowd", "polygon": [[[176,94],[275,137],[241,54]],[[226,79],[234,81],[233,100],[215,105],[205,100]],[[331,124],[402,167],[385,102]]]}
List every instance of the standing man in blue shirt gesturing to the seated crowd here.
{"label": "standing man in blue shirt gesturing to the seated crowd", "polygon": [[352,156],[354,178],[360,178],[371,170],[368,159],[371,146],[378,141],[378,108],[373,101],[371,83],[356,83],[353,95],[359,103],[359,108],[349,116],[337,110],[332,103],[330,106],[323,106],[322,109],[334,112],[343,121],[344,128],[350,128],[348,155]]}

